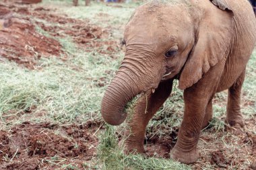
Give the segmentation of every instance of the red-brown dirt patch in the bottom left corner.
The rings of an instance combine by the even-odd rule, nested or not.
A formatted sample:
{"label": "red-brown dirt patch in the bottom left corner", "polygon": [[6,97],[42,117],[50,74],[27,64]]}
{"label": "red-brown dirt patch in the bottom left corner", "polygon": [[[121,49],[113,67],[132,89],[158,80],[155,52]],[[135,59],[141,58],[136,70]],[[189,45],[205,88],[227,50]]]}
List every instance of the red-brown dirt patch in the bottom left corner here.
{"label": "red-brown dirt patch in the bottom left corner", "polygon": [[[9,131],[0,131],[0,169],[54,169],[54,162],[68,165],[75,162],[83,168],[84,161],[96,155],[96,125],[24,122]],[[93,128],[95,127],[95,128]]]}

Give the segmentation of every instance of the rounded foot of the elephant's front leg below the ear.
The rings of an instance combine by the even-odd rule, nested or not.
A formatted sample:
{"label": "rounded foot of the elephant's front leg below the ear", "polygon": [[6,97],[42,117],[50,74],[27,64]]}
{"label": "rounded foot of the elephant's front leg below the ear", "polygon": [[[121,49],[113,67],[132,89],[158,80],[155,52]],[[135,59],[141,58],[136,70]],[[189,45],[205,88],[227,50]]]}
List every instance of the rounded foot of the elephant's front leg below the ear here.
{"label": "rounded foot of the elephant's front leg below the ear", "polygon": [[197,148],[193,149],[192,151],[181,151],[180,149],[174,148],[171,151],[170,157],[175,161],[179,161],[185,164],[195,163],[199,158],[199,151]]}

